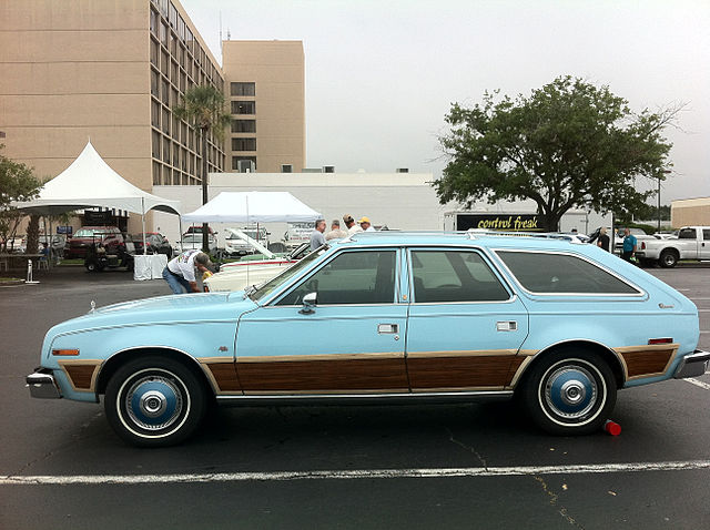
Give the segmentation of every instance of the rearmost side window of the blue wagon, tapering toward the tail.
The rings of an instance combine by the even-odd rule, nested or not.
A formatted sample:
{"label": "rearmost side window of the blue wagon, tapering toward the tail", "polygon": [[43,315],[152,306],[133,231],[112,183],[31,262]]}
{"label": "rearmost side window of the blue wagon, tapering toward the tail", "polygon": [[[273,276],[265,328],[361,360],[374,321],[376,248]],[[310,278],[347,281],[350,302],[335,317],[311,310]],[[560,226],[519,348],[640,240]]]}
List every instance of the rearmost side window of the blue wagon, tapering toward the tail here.
{"label": "rearmost side window of the blue wagon, tapering toward the tail", "polygon": [[639,294],[639,291],[595,264],[561,253],[498,251],[498,256],[532,293]]}

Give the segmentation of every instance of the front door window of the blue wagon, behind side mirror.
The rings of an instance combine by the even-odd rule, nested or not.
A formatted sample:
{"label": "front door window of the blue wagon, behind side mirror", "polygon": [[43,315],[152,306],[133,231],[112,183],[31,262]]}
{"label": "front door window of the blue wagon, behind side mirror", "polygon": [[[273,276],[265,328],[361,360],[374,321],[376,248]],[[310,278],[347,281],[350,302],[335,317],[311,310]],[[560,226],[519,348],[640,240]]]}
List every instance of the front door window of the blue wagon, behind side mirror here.
{"label": "front door window of the blue wagon, behind side mirror", "polygon": [[343,252],[308,276],[276,305],[298,305],[308,293],[317,304],[393,304],[395,251]]}

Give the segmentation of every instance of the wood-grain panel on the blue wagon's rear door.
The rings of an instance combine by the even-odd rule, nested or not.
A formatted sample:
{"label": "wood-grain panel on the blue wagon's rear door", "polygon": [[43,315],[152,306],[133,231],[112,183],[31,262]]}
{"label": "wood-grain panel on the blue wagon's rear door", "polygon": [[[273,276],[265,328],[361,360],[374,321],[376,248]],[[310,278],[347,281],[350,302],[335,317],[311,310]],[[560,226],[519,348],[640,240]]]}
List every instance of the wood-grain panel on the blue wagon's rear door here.
{"label": "wood-grain panel on the blue wagon's rear door", "polygon": [[524,357],[513,355],[407,358],[412,389],[503,387]]}

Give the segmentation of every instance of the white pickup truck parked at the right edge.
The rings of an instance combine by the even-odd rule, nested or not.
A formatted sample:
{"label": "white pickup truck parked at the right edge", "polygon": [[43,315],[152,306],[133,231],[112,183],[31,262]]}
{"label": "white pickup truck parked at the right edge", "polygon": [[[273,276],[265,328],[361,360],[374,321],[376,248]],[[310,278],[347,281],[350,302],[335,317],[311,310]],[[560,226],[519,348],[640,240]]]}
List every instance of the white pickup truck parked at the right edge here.
{"label": "white pickup truck parked at the right edge", "polygon": [[642,265],[666,268],[679,259],[710,259],[710,226],[683,226],[676,239],[639,239],[636,257]]}

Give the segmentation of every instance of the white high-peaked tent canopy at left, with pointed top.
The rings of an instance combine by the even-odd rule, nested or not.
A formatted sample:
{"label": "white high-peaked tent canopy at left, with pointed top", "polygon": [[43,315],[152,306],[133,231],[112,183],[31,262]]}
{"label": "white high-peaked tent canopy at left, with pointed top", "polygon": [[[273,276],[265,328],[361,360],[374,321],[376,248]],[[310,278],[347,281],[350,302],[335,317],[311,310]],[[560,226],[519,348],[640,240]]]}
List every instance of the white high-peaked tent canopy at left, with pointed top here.
{"label": "white high-peaked tent canopy at left, with pointed top", "polygon": [[162,198],[134,186],[103,161],[91,142],[69,167],[44,184],[37,198],[16,202],[12,206],[27,214],[40,215],[97,206],[141,215],[150,210],[180,215],[180,201]]}

